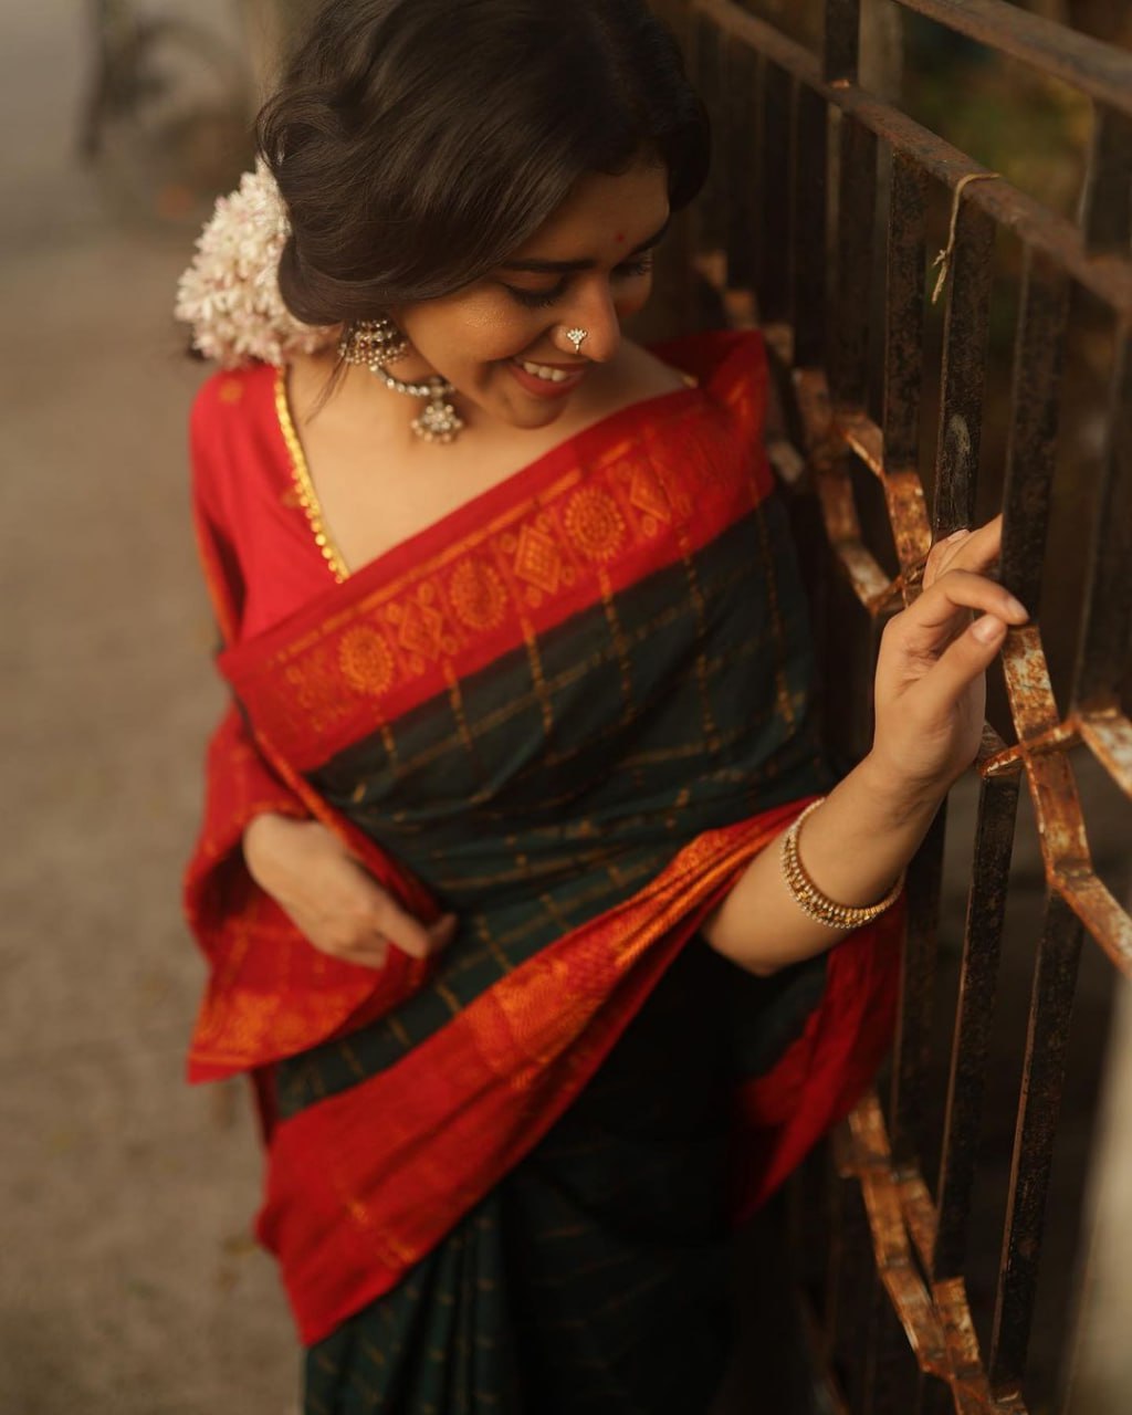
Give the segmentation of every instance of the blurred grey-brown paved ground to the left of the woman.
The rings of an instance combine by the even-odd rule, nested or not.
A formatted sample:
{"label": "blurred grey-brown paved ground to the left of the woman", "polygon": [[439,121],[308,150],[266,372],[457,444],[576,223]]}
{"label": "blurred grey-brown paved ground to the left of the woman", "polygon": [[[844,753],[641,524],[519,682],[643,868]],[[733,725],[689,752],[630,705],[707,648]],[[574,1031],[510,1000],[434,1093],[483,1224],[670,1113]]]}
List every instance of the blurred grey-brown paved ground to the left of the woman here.
{"label": "blurred grey-brown paved ground to the left of the woman", "polygon": [[[4,7],[0,1412],[284,1415],[243,1095],[181,1084],[178,874],[221,700],[185,508],[201,372],[168,317],[185,249],[123,232],[75,171],[81,58],[68,0]],[[1019,859],[1033,900],[1033,842]],[[1032,914],[1019,937],[1024,999]]]}

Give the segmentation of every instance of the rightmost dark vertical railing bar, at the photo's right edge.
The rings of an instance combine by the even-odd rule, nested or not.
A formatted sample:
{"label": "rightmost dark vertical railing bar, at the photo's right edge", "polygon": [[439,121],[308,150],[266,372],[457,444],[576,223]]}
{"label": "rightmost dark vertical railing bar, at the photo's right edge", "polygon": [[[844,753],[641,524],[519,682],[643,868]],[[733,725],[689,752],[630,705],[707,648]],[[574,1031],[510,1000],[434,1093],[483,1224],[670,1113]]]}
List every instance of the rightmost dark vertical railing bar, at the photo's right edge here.
{"label": "rightmost dark vertical railing bar, at the photo's right edge", "polygon": [[1112,372],[1108,451],[1090,562],[1073,706],[1080,712],[1114,710],[1132,642],[1132,338],[1126,331]]}

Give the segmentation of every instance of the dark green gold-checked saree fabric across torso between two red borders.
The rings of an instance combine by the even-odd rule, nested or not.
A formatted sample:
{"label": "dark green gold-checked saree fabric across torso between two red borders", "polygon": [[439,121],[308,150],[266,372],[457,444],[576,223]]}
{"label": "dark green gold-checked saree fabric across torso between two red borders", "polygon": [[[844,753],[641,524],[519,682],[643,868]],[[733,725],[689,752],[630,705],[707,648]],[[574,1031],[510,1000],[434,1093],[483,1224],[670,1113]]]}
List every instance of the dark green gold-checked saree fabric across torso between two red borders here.
{"label": "dark green gold-checked saree fabric across torso between two red borders", "polygon": [[818,790],[804,614],[770,498],[313,773],[460,932],[427,986],[279,1068],[282,1112],[393,1064],[703,831]]}

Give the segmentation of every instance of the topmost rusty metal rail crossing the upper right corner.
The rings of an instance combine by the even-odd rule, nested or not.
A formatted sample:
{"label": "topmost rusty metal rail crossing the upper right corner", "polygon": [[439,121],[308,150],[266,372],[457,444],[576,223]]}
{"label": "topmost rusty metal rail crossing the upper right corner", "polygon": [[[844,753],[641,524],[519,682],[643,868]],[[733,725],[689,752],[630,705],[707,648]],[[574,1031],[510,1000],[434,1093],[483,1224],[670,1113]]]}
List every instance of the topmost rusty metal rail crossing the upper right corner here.
{"label": "topmost rusty metal rail crossing the upper right corner", "polygon": [[957,34],[1132,113],[1132,55],[1006,0],[897,0]]}

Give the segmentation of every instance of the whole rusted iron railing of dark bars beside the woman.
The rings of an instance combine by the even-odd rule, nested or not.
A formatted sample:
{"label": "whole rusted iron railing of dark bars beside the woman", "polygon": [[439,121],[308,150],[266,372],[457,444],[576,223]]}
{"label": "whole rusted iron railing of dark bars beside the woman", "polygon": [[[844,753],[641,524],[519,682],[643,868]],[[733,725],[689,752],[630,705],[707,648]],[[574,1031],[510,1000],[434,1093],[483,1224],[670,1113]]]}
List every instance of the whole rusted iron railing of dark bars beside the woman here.
{"label": "whole rusted iron railing of dark bars beside the woman", "polygon": [[[826,0],[822,54],[729,0],[658,0],[657,8],[686,44],[717,134],[716,170],[691,241],[732,311],[757,318],[781,357],[792,446],[780,443],[777,460],[790,477],[805,468],[841,582],[866,611],[857,614],[869,625],[865,638],[874,642],[877,624],[918,593],[932,538],[975,518],[999,233],[1010,233],[1022,250],[1000,577],[1032,607],[1043,603],[1061,376],[1071,304],[1081,291],[1107,340],[1107,446],[1067,706],[1058,708],[1054,696],[1039,623],[1013,631],[1003,652],[1012,729],[1000,724],[999,734],[988,724],[978,764],[942,1135],[931,1146],[921,1133],[941,812],[910,873],[910,937],[887,1104],[869,1097],[833,1143],[841,1182],[828,1206],[828,1282],[815,1312],[845,1411],[1023,1415],[1082,940],[1132,976],[1132,918],[1094,869],[1070,763],[1070,749],[1087,749],[1132,797],[1132,723],[1121,699],[1132,642],[1132,55],[1003,0],[899,3],[1091,100],[1092,144],[1077,222],[859,86],[860,0]],[[927,354],[925,311],[930,211],[941,198],[952,212],[954,246],[937,369]],[[928,402],[938,398],[934,457],[927,458],[920,426],[925,391]],[[930,509],[925,481],[932,485]],[[1047,589],[1056,600],[1058,586]],[[836,594],[831,586],[831,652],[846,637]],[[841,672],[843,657],[836,662],[838,681],[853,683],[852,710],[839,702],[838,712],[850,724],[849,747],[859,749],[867,732],[870,659],[856,655],[855,676]],[[983,1354],[965,1274],[1023,781],[1040,835],[1046,904]],[[930,1186],[924,1156],[935,1148],[941,1162]],[[811,1228],[815,1221],[811,1206]]]}

